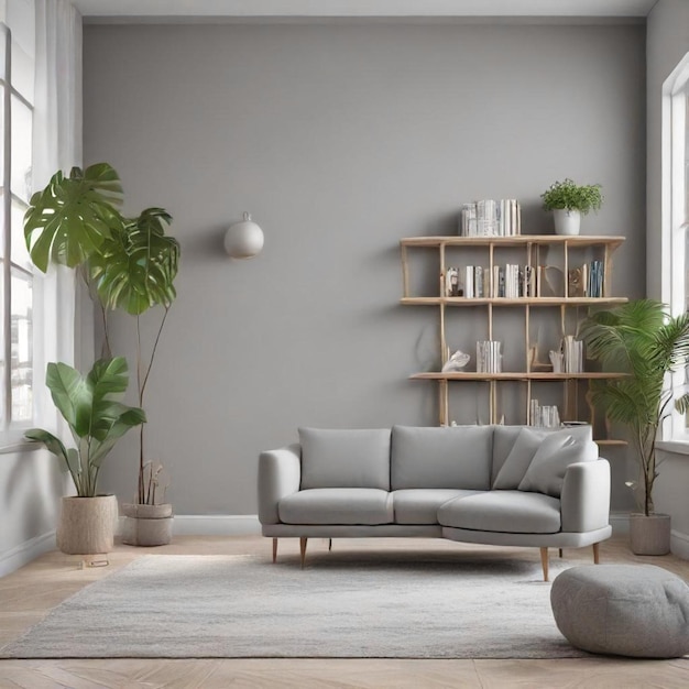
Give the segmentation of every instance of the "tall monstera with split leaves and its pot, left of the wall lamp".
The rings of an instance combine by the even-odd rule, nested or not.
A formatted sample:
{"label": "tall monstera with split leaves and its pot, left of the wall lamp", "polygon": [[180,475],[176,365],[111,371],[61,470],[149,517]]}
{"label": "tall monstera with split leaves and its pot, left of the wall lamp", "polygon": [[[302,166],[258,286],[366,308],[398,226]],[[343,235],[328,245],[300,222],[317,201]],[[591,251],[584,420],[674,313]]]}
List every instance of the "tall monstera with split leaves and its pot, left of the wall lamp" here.
{"label": "tall monstera with split leaves and its pot, left of the wall lamp", "polygon": [[[102,316],[106,356],[111,351],[109,311],[120,309],[135,316],[136,391],[143,407],[157,344],[176,296],[179,244],[165,233],[172,218],[164,209],[146,208],[128,218],[120,212],[121,204],[120,179],[109,164],[98,163],[85,171],[74,167],[68,176],[58,172],[32,197],[24,232],[31,259],[40,270],[45,271],[51,262],[66,264],[76,269],[88,286]],[[151,353],[144,358],[140,317],[153,306],[162,306],[163,315]],[[132,526],[132,517],[127,517],[123,540],[161,545],[172,537],[172,505],[160,504],[165,499],[162,473],[160,466],[144,459],[143,429],[142,424],[136,497],[134,505],[123,510],[133,518],[144,513],[146,521],[136,520]]]}

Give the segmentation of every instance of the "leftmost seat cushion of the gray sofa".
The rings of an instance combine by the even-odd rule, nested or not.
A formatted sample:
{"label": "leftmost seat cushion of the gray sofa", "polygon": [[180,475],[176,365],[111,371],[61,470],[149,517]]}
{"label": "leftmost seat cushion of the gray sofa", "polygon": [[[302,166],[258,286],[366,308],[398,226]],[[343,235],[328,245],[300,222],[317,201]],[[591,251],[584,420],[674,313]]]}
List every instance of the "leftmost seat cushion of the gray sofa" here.
{"label": "leftmost seat cushion of the gray sofa", "polygon": [[374,488],[316,488],[283,497],[283,524],[392,524],[392,496]]}

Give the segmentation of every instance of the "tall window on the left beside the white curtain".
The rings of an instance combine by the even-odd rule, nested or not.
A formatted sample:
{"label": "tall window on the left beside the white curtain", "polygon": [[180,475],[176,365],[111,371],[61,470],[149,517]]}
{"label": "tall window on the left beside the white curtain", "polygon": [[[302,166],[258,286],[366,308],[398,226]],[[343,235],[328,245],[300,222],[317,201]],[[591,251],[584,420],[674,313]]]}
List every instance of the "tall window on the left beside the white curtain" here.
{"label": "tall window on the left beside the white curtain", "polygon": [[0,430],[33,418],[33,272],[23,236],[31,197],[33,57],[0,23]]}

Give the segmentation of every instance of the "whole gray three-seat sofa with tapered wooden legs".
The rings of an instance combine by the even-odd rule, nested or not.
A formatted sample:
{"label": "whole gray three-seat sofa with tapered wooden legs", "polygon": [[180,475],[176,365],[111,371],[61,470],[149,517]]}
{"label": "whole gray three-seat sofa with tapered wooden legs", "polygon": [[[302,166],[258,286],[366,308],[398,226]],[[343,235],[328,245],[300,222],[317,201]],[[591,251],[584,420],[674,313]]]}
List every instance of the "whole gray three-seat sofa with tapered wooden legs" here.
{"label": "whole gray three-seat sofa with tapered wooden legs", "polygon": [[540,548],[610,537],[610,464],[591,427],[300,428],[299,442],[259,458],[264,536],[442,537]]}

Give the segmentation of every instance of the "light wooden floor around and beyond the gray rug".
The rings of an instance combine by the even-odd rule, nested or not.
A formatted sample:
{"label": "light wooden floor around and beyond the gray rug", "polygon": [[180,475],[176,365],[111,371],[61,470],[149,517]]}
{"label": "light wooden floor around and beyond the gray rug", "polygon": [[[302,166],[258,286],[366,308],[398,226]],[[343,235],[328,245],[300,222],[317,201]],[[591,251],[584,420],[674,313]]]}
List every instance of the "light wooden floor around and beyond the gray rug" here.
{"label": "light wooden floor around and beyond the gray rug", "polygon": [[[322,539],[309,540],[309,550],[327,548]],[[472,551],[483,546],[444,540],[360,539],[335,542],[352,557],[362,549],[439,549]],[[537,549],[502,548],[505,557],[532,560],[540,569]],[[133,548],[118,545],[110,565],[79,569],[79,558],[48,553],[19,571],[0,579],[0,646],[41,620],[53,606],[85,584],[108,576],[146,553],[156,554],[252,554],[270,566],[271,540],[260,537],[176,537],[169,546]],[[557,556],[556,551],[553,551]],[[566,550],[568,565],[590,562],[590,548]],[[298,540],[282,539],[278,558],[298,562]],[[308,561],[308,555],[307,555]],[[633,556],[624,538],[601,547],[602,562],[650,562],[689,580],[689,561],[672,556]],[[403,659],[110,659],[110,660],[0,660],[0,687],[48,689],[94,687],[147,689],[165,688],[414,688],[433,687],[547,687],[556,689],[610,687],[689,687],[689,656],[679,660],[633,660],[587,657],[559,660],[403,660]]]}

